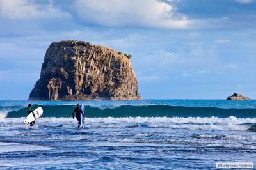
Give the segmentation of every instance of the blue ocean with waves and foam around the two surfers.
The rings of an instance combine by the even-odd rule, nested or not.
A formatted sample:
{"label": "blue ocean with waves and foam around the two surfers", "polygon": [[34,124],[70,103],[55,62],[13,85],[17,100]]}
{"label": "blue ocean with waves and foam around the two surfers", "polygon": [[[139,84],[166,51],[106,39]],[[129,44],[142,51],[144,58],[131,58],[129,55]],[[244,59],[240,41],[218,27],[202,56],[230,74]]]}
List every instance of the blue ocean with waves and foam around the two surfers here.
{"label": "blue ocean with waves and foam around the two surfers", "polygon": [[[72,111],[85,105],[85,128]],[[0,169],[216,169],[255,162],[256,100],[0,101]]]}

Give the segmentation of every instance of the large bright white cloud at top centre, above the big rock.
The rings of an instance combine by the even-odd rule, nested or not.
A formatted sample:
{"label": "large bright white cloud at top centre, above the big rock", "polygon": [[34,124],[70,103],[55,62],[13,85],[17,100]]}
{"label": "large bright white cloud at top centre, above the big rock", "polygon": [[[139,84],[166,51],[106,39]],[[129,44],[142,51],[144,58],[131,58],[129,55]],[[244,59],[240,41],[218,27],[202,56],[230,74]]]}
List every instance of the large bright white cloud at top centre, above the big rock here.
{"label": "large bright white cloud at top centre, above the big rock", "polygon": [[74,7],[82,20],[100,26],[186,29],[193,24],[174,6],[157,0],[77,0]]}

